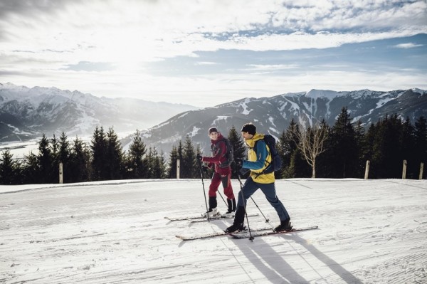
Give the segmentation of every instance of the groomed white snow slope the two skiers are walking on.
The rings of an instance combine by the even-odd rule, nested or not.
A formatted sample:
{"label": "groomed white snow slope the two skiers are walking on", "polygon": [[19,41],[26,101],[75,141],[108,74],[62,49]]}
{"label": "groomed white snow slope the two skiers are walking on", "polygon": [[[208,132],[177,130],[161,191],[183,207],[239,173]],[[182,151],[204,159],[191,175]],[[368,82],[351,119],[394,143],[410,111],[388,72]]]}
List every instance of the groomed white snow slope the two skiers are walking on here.
{"label": "groomed white snow slope the two skiers are walking on", "polygon": [[[426,180],[276,187],[295,227],[319,229],[181,241],[175,235],[232,222],[164,219],[205,210],[197,179],[0,186],[0,283],[427,283]],[[277,225],[263,194],[253,199]],[[219,197],[218,208],[226,210]],[[248,212],[258,213],[251,200]],[[249,221],[265,226],[262,215]]]}

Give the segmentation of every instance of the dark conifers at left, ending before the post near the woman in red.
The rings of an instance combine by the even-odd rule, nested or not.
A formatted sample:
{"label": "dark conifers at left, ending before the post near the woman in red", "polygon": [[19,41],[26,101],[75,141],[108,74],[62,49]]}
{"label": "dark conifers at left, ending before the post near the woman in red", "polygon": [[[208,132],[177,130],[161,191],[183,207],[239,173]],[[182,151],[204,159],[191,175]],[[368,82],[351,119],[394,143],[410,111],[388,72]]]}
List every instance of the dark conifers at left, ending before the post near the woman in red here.
{"label": "dark conifers at left, ending before the post near the woman in red", "polygon": [[96,127],[90,144],[76,137],[69,142],[64,132],[48,139],[43,134],[38,154],[14,159],[9,150],[1,153],[0,184],[57,184],[59,164],[63,164],[63,182],[90,182],[112,179],[164,179],[164,154],[147,148],[137,130],[129,150],[124,152],[117,134]]}

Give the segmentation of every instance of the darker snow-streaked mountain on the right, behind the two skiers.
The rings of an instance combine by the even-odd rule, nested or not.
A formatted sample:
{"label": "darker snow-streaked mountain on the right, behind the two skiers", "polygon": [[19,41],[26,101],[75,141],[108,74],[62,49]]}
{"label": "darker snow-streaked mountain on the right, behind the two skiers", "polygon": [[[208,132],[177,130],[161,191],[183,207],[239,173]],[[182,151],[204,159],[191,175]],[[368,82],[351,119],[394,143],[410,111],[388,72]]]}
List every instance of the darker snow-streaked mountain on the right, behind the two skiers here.
{"label": "darker snow-streaked mountain on the right, behind the two skiers", "polygon": [[389,92],[310,90],[271,98],[246,98],[183,112],[144,132],[144,138],[148,144],[169,152],[173,144],[177,145],[179,140],[184,142],[186,135],[189,135],[207,153],[209,127],[216,126],[227,136],[233,125],[239,132],[243,124],[253,122],[259,132],[279,137],[292,118],[303,125],[322,119],[334,125],[342,107],[348,108],[353,122],[361,120],[364,125],[394,114],[402,119],[409,117],[413,123],[417,117],[427,117],[427,91],[416,88]]}

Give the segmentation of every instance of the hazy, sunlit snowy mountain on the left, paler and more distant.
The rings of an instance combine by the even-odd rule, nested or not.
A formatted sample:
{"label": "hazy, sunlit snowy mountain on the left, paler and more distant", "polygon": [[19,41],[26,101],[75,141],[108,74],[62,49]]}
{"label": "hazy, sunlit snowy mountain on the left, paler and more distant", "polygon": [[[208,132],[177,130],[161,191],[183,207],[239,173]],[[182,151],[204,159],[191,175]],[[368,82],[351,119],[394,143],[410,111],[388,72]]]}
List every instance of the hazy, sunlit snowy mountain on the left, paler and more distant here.
{"label": "hazy, sunlit snowy mountain on the left, paler and more distant", "polygon": [[115,132],[152,127],[191,105],[149,102],[132,98],[97,98],[75,90],[27,88],[0,83],[0,142],[47,136],[93,133],[96,125]]}

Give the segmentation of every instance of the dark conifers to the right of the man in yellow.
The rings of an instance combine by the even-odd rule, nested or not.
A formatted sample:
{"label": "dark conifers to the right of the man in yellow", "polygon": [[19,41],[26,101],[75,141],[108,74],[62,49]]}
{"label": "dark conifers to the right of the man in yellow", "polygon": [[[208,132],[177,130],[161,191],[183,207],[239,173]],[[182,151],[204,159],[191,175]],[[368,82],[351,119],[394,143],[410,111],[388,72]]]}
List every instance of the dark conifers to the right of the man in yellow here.
{"label": "dark conifers to the right of the man in yellow", "polygon": [[[347,107],[343,107],[332,127],[325,120],[301,129],[295,120],[283,131],[277,147],[283,159],[281,178],[364,178],[367,161],[369,179],[401,179],[406,160],[406,178],[418,179],[421,162],[427,164],[427,122],[418,117],[414,124],[407,117],[386,115],[366,129],[362,121],[352,124]],[[301,135],[304,132],[305,135]],[[315,169],[302,151],[301,138],[308,144],[322,132],[322,149],[315,157]],[[309,154],[310,159],[310,154]],[[426,179],[426,170],[423,179]]]}

